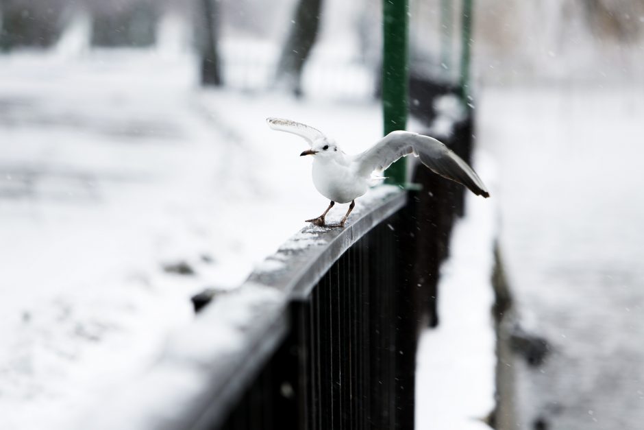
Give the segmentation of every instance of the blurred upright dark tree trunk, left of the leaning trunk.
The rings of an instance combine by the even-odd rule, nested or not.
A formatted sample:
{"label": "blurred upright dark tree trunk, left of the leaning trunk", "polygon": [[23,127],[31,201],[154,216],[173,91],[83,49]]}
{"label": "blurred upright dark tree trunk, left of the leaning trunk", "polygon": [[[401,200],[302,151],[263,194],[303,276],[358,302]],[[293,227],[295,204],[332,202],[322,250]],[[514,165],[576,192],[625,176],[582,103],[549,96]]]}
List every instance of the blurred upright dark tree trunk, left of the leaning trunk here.
{"label": "blurred upright dark tree trunk, left of the leaning trunk", "polygon": [[199,0],[197,19],[200,32],[199,51],[201,52],[201,84],[219,86],[221,63],[219,61],[219,5],[216,0]]}

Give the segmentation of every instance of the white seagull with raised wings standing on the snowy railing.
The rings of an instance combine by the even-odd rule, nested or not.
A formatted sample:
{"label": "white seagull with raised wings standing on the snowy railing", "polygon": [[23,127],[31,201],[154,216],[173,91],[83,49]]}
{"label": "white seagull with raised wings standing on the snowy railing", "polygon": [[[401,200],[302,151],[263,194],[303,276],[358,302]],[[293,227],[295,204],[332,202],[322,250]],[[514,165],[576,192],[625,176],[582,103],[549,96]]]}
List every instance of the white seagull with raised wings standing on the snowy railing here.
{"label": "white seagull with raised wings standing on the snowy railing", "polygon": [[336,203],[349,203],[349,210],[340,221],[343,227],[356,206],[356,198],[367,193],[374,171],[382,171],[401,157],[414,155],[434,173],[465,185],[476,195],[490,197],[475,171],[444,143],[433,137],[408,131],[395,131],[377,141],[368,150],[347,155],[334,139],[303,123],[282,118],[267,118],[273,130],[297,134],[310,145],[300,156],[313,156],[313,184],[317,191],[331,200],[329,207],[317,218],[307,219],[316,226],[327,226],[325,216]]}

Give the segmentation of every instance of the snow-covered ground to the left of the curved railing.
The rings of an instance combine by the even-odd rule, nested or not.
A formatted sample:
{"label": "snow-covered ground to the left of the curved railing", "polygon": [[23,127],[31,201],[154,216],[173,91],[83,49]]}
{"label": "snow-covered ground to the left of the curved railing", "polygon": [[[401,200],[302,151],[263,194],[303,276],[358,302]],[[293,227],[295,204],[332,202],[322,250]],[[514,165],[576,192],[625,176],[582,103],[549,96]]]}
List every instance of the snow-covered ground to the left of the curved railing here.
{"label": "snow-covered ground to the left of the curved railing", "polygon": [[[59,54],[0,57],[2,429],[65,428],[193,319],[190,296],[239,285],[326,207],[306,143],[266,117],[347,152],[381,133],[368,99],[203,91],[188,54]],[[195,273],[164,270],[181,262]]]}

